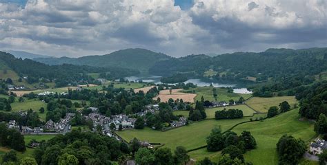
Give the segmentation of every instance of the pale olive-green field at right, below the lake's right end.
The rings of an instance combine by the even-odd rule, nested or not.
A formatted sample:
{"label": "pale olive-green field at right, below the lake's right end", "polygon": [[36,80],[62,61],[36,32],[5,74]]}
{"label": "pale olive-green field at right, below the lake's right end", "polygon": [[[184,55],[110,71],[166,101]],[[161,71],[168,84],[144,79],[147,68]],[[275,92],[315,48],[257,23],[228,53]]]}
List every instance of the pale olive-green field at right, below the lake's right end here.
{"label": "pale olive-green field at right, below the lake's right end", "polygon": [[293,105],[297,103],[297,100],[295,99],[294,96],[281,96],[281,97],[272,97],[272,98],[253,97],[247,100],[246,104],[252,109],[255,109],[255,111],[259,111],[261,113],[267,113],[269,107],[278,106],[279,103],[283,101],[287,101],[291,107],[293,107]]}

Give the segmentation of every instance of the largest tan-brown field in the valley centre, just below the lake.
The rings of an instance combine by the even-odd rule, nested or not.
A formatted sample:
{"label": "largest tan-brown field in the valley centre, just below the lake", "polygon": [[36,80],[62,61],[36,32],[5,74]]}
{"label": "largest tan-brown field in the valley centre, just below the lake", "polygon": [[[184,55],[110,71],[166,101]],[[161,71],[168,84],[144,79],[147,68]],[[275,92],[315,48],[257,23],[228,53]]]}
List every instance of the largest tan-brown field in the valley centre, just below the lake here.
{"label": "largest tan-brown field in the valley centre, just below the lake", "polygon": [[180,92],[181,89],[172,89],[172,94],[170,94],[170,89],[161,90],[159,95],[153,98],[154,100],[157,100],[157,98],[160,98],[161,102],[168,102],[170,98],[172,100],[183,99],[184,102],[194,102],[196,94],[188,94]]}

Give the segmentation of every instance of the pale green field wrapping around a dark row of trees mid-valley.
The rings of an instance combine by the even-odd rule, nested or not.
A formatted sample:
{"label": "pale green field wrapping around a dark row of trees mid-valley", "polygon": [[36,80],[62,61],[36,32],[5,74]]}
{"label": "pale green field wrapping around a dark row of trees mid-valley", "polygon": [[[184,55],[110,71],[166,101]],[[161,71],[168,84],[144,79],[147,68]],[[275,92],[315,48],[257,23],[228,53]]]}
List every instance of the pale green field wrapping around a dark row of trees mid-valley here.
{"label": "pale green field wrapping around a dark row of trees mid-valley", "polygon": [[[252,116],[253,113],[255,113],[255,111],[250,109],[248,106],[246,106],[244,104],[240,104],[240,105],[232,105],[232,106],[226,106],[226,107],[216,107],[216,108],[206,109],[207,118],[208,119],[215,118],[215,112],[221,111],[223,109],[227,109],[227,110],[228,109],[240,109],[243,111],[244,116]],[[185,117],[188,117],[188,112],[189,111],[173,111],[172,113],[174,113],[174,115],[184,115]]]}

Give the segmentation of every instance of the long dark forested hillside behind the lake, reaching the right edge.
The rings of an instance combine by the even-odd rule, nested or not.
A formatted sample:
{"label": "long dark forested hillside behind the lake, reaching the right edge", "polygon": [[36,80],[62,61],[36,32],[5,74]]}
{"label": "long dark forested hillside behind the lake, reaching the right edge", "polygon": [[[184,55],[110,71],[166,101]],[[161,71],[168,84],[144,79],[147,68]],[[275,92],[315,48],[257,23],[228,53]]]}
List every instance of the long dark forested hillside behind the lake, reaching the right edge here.
{"label": "long dark forested hillside behind the lake, reaching the right edge", "polygon": [[236,52],[215,57],[192,55],[159,61],[150,73],[161,76],[186,74],[199,78],[210,71],[214,80],[251,80],[259,83],[255,96],[294,95],[295,87],[308,85],[327,70],[327,48],[304,50],[268,49],[265,52]]}

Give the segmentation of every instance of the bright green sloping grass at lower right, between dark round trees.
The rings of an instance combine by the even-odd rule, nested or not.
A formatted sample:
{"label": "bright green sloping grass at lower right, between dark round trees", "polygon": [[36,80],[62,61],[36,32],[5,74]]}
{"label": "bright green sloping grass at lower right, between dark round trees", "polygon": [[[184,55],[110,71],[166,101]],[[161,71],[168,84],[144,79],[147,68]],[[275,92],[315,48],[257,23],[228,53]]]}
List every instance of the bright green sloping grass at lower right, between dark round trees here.
{"label": "bright green sloping grass at lower right, between dark round trees", "polygon": [[244,130],[250,131],[257,140],[257,149],[248,151],[244,155],[246,161],[253,164],[277,164],[276,144],[282,135],[293,135],[306,142],[315,137],[313,123],[299,121],[298,109],[263,122],[249,122],[232,129],[236,133]]}

